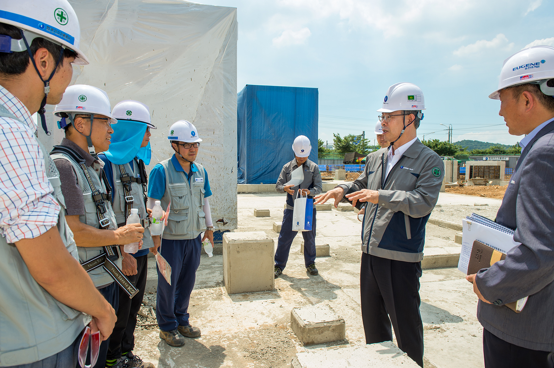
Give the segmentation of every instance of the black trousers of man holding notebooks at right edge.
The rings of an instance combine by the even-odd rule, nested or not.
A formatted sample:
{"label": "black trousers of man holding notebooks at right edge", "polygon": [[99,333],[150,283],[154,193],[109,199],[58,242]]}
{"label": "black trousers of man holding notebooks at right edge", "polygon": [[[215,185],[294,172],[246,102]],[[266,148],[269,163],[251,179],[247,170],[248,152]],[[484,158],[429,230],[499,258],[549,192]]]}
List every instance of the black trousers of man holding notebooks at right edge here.
{"label": "black trousers of man holding notebooks at right edge", "polygon": [[483,329],[483,355],[486,368],[552,368],[554,353],[522,348]]}

